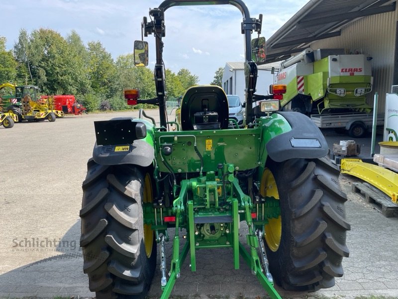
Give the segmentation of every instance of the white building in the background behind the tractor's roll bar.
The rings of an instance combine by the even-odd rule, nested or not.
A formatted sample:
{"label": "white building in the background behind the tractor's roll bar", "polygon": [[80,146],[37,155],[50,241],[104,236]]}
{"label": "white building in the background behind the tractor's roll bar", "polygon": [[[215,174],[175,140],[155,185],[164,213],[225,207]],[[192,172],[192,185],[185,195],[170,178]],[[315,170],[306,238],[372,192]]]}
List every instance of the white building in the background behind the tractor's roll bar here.
{"label": "white building in the background behind the tractor's roll bar", "polygon": [[[280,62],[258,65],[258,77],[256,94],[268,95],[270,85],[275,83],[275,78]],[[272,68],[275,73],[272,74]],[[240,101],[246,101],[245,97],[245,72],[244,62],[227,62],[222,75],[222,88],[227,95],[238,95]]]}

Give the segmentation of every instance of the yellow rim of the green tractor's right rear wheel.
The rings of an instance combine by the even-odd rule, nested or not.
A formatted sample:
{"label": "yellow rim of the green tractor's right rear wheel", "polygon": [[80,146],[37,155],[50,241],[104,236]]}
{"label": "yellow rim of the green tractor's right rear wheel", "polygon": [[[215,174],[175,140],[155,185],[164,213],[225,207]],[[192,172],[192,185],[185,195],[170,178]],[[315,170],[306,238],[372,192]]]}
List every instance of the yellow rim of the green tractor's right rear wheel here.
{"label": "yellow rim of the green tractor's right rear wheel", "polygon": [[[271,170],[266,168],[261,178],[260,194],[263,197],[274,197],[279,200],[278,187],[275,182],[275,177]],[[272,251],[277,251],[281,244],[282,235],[282,219],[278,218],[268,219],[268,224],[264,225],[265,241]]]}

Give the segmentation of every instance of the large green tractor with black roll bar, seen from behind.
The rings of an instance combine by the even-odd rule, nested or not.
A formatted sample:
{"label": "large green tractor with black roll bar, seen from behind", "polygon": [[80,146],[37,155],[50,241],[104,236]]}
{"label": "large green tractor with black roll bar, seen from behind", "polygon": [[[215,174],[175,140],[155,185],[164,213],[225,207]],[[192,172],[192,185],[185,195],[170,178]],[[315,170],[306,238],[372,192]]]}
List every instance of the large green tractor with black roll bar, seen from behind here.
{"label": "large green tractor with black roll bar, seen from behind", "polygon": [[[231,4],[242,12],[244,129],[231,125],[217,86],[188,89],[176,122],[167,120],[164,13],[200,4]],[[253,55],[251,34],[261,33],[262,15],[250,17],[242,0],[164,0],[149,14],[142,30],[156,39],[156,98],[140,99],[138,89],[124,94],[130,105],[158,105],[160,124],[142,110],[138,118],[95,122],[80,211],[90,290],[98,299],[145,298],[159,252],[161,298],[167,299],[184,275],[184,260],[196,271],[203,248],[229,248],[235,269],[243,258],[273,299],[281,298],[274,282],[290,291],[332,287],[349,255],[347,198],[319,129],[303,114],[280,112],[286,86],[273,87],[275,95],[255,94],[256,57],[263,57]],[[135,41],[134,48],[135,64],[147,65],[148,44]],[[166,242],[172,242],[170,261]]]}

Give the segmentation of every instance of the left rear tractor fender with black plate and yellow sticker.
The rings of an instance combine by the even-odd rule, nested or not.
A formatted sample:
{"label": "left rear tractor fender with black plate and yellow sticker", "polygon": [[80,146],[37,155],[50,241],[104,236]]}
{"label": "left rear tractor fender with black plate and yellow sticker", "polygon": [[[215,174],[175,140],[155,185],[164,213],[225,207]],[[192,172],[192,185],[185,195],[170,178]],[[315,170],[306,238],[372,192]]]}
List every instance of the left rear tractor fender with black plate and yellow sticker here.
{"label": "left rear tractor fender with black plate and yellow sticker", "polygon": [[94,122],[97,141],[93,159],[101,165],[146,167],[155,157],[153,125],[145,120],[114,118]]}

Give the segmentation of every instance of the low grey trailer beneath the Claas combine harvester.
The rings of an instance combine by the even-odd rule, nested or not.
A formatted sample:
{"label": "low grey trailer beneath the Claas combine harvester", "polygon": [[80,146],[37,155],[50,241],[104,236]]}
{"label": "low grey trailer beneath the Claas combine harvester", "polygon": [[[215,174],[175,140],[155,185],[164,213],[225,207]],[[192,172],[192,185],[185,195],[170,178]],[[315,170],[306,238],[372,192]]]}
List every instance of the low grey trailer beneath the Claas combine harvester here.
{"label": "low grey trailer beneath the Claas combine harvester", "polygon": [[[369,113],[313,114],[310,118],[318,128],[333,128],[338,133],[348,132],[353,138],[365,137],[373,125],[373,114]],[[384,114],[378,114],[377,126],[383,125]]]}

